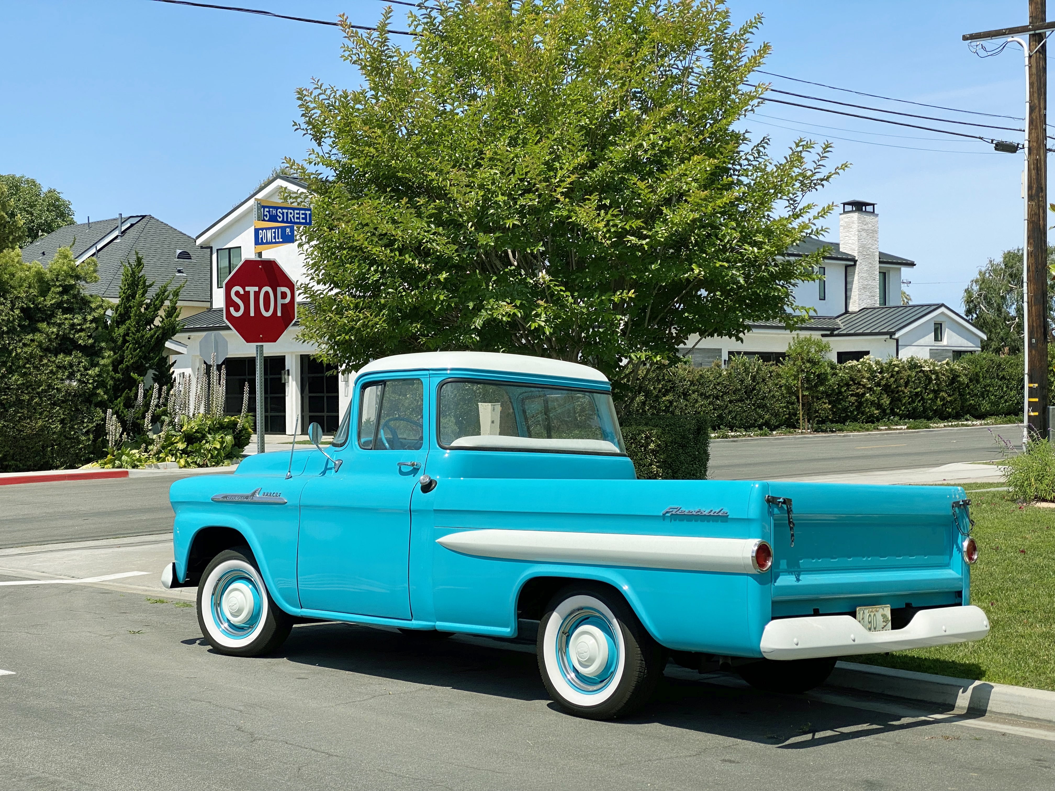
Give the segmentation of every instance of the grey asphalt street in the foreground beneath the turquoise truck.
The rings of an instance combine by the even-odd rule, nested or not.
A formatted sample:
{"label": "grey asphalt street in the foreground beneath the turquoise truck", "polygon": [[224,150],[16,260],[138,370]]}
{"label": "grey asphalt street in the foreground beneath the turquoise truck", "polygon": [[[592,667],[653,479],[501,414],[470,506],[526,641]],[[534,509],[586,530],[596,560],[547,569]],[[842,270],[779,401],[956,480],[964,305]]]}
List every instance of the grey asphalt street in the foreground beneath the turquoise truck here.
{"label": "grey asphalt street in the foreground beneath the turquoise truck", "polygon": [[[548,700],[533,648],[303,624],[200,639],[167,536],[0,552],[0,788],[1050,789],[1055,729],[668,668],[614,722]],[[148,572],[80,584],[57,582]],[[40,580],[37,584],[9,584]],[[6,583],[6,584],[5,584]]]}

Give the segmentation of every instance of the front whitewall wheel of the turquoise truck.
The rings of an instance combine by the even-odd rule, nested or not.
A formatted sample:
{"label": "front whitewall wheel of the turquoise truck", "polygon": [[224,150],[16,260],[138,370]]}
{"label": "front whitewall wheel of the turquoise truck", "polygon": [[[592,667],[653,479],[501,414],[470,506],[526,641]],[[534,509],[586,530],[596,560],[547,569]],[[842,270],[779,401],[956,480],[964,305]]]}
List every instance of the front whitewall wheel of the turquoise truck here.
{"label": "front whitewall wheel of the turquoise truck", "polygon": [[261,656],[289,637],[293,619],[274,603],[249,547],[225,549],[198,585],[198,625],[220,654]]}

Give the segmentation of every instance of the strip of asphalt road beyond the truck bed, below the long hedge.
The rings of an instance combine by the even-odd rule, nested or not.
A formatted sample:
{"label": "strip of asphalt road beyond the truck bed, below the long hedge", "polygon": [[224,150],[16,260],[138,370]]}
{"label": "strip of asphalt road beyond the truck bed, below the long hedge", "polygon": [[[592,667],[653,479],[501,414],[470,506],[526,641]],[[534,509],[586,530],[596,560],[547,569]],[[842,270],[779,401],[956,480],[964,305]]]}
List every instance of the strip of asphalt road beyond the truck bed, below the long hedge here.
{"label": "strip of asphalt road beyond the truck bed, below the long hedge", "polygon": [[713,440],[707,477],[780,480],[812,475],[937,467],[1000,459],[995,436],[1018,443],[1019,426],[869,431]]}

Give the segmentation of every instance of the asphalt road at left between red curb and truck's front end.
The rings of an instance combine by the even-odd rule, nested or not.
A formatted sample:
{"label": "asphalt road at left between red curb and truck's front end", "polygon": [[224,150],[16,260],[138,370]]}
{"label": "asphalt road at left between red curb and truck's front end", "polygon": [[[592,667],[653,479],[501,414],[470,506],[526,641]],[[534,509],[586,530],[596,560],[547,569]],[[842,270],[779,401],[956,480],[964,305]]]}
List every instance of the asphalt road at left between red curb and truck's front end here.
{"label": "asphalt road at left between red curb and truck's front end", "polygon": [[0,548],[171,530],[169,487],[184,477],[0,486]]}

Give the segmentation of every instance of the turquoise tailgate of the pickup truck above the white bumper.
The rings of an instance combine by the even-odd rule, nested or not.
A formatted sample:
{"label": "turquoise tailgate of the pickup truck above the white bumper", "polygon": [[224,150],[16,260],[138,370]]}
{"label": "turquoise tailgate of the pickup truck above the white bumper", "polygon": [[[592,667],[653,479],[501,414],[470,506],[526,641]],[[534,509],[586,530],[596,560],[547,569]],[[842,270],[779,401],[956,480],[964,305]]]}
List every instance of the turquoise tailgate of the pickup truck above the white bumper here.
{"label": "turquoise tailgate of the pickup truck above the white bumper", "polygon": [[955,486],[863,486],[769,483],[790,498],[773,517],[773,617],[851,613],[867,604],[891,610],[967,603],[959,551]]}

